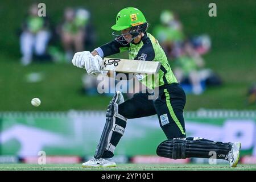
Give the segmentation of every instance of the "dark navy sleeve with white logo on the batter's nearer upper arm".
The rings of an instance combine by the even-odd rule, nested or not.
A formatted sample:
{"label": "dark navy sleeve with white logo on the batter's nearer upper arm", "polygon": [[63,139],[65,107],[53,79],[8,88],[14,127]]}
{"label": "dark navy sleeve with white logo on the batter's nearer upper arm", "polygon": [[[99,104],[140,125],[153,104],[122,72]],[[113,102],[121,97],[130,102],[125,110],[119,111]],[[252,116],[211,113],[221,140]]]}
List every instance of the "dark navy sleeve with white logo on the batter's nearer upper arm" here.
{"label": "dark navy sleeve with white logo on the batter's nearer upper arm", "polygon": [[148,36],[144,35],[142,38],[143,46],[139,49],[135,60],[152,61],[155,59],[155,51],[152,42]]}

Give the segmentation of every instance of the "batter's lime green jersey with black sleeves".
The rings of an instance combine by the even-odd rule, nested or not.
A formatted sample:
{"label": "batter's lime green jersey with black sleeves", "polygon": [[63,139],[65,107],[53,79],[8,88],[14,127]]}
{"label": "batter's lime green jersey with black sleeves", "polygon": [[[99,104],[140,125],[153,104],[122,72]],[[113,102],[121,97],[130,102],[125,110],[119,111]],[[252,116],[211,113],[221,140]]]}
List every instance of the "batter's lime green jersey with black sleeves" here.
{"label": "batter's lime green jersey with black sleeves", "polygon": [[140,80],[142,84],[148,88],[154,89],[155,87],[176,83],[177,79],[171,70],[168,63],[166,54],[162,47],[159,45],[158,40],[149,33],[146,33],[141,41],[137,44],[130,43],[126,46],[119,44],[116,40],[104,44],[100,47],[104,53],[104,57],[114,55],[115,53],[129,51],[129,59],[143,60],[143,61],[159,61],[161,67],[158,72],[158,82],[148,81],[147,76]]}

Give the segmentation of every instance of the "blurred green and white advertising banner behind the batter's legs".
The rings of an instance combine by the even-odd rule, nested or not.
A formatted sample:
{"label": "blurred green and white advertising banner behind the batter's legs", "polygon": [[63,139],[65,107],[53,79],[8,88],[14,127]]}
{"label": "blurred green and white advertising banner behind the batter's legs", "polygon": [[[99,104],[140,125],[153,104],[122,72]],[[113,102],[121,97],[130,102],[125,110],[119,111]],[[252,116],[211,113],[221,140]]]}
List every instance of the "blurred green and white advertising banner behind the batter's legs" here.
{"label": "blurred green and white advertising banner behind the batter's legs", "polygon": [[[241,155],[256,156],[256,111],[187,111],[184,118],[187,137],[240,141]],[[0,113],[0,155],[92,156],[105,121],[105,111]],[[156,115],[128,119],[115,154],[156,155],[166,139]]]}

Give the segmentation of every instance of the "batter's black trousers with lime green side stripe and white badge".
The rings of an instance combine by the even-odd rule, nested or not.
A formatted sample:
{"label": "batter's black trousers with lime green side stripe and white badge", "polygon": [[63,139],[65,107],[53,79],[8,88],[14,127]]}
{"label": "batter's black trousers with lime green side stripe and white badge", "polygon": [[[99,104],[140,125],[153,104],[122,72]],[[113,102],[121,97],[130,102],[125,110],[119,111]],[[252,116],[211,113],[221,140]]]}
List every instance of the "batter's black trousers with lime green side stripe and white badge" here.
{"label": "batter's black trousers with lime green side stripe and white badge", "polygon": [[[148,93],[137,93],[130,100],[118,106],[118,113],[128,119],[158,115],[160,127],[167,139],[184,138],[185,123],[183,109],[186,102],[184,90],[177,83],[159,87],[159,96],[148,100]],[[116,118],[115,123],[126,127],[126,122]],[[117,146],[122,135],[113,133],[110,143]],[[113,153],[105,151],[102,158],[111,158]]]}

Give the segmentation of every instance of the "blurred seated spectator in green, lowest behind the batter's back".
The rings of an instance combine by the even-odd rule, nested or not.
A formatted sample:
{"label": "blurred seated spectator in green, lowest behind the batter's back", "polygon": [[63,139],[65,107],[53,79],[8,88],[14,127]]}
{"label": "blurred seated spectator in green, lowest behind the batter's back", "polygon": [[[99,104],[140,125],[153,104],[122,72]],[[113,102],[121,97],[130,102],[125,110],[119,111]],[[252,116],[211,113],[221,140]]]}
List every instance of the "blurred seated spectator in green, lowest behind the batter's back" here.
{"label": "blurred seated spectator in green, lowest behind the batter's back", "polygon": [[174,61],[174,74],[183,89],[188,93],[201,94],[206,86],[219,86],[221,78],[205,68],[203,57],[195,49],[191,42],[184,42],[181,53]]}

